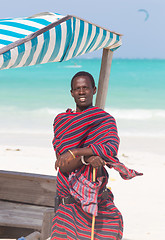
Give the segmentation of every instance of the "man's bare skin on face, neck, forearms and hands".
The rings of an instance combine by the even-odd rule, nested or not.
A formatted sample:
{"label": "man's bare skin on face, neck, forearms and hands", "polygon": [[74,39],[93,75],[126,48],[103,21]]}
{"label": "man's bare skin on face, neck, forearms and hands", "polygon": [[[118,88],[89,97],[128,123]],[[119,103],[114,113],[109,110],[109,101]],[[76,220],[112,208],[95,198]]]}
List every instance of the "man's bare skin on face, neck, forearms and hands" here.
{"label": "man's bare skin on face, neck, forearms and hands", "polygon": [[[92,87],[92,83],[88,76],[79,76],[73,80],[73,89],[71,95],[76,103],[76,112],[82,112],[89,106],[92,106],[93,95],[96,93],[96,87]],[[68,151],[61,155],[56,155],[55,169],[59,167],[65,172],[72,172],[75,169],[83,166],[80,156],[85,157],[85,161],[90,163],[93,168],[98,168],[105,165],[105,161],[100,156],[94,156],[91,147],[72,149],[73,155]]]}

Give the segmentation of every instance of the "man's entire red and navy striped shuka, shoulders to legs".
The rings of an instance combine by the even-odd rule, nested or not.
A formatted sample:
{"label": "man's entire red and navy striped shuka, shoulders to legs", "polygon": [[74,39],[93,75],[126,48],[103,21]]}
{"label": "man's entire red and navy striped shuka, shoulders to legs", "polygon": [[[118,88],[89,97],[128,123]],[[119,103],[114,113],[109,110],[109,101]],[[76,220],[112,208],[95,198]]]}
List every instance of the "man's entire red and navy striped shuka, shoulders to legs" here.
{"label": "man's entire red and navy striped shuka, shoulders to legs", "polygon": [[[93,155],[101,156],[117,170],[124,179],[141,175],[120,163],[117,156],[119,137],[114,118],[98,107],[89,107],[81,113],[68,109],[57,115],[54,121],[53,146],[57,154],[74,148],[91,147]],[[59,196],[74,196],[77,203],[60,204],[53,219],[52,239],[90,239],[92,215],[96,216],[95,239],[121,239],[122,216],[109,199],[101,199],[108,182],[108,174],[102,168],[102,175],[92,182],[92,167],[83,166],[68,174],[59,170],[57,191]]]}

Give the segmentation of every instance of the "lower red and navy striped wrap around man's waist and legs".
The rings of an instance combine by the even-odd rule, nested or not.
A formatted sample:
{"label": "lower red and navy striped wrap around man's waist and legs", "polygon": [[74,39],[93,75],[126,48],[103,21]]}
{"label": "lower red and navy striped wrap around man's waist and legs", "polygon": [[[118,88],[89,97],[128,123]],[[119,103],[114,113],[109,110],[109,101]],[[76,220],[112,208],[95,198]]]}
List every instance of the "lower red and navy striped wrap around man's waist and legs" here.
{"label": "lower red and navy striped wrap around man's waist and legs", "polygon": [[[92,167],[82,167],[88,179],[92,179]],[[119,240],[123,235],[122,215],[113,203],[113,194],[108,191],[108,199],[101,200],[106,187],[108,174],[103,168],[102,184],[98,193],[98,215],[95,217],[95,240]],[[57,191],[61,197],[70,193],[67,174],[59,170],[57,176]],[[73,204],[60,204],[52,221],[51,239],[89,240],[91,239],[92,215],[85,212],[79,201]]]}

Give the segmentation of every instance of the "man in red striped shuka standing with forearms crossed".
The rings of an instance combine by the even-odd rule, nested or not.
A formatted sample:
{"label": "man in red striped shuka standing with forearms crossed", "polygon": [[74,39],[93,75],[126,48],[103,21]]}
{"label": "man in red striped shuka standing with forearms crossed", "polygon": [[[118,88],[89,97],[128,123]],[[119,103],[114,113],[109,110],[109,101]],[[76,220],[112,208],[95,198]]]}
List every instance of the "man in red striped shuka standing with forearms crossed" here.
{"label": "man in red striped shuka standing with forearms crossed", "polygon": [[[119,137],[114,118],[93,107],[94,79],[87,72],[71,81],[76,111],[68,109],[54,121],[53,146],[57,160],[57,191],[60,204],[53,219],[51,239],[91,239],[92,215],[95,239],[121,239],[123,221],[106,188],[106,164],[129,179],[139,175],[117,159]],[[96,182],[92,180],[96,168]]]}

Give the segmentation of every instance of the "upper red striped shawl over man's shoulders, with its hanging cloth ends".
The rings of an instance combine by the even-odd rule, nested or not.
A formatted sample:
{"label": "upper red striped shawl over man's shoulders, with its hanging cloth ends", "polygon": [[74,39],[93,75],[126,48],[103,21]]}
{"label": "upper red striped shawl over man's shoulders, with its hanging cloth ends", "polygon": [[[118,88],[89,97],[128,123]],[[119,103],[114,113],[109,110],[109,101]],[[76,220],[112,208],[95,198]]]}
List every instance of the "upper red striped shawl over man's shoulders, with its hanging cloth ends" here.
{"label": "upper red striped shawl over man's shoulders, with its hanging cloth ends", "polygon": [[[81,113],[73,113],[68,109],[66,113],[57,115],[54,121],[53,146],[57,154],[69,149],[91,147],[94,155],[101,156],[124,179],[141,175],[119,162],[116,157],[119,137],[115,119],[98,107],[89,107]],[[81,202],[85,212],[97,215],[97,195],[103,178],[92,183],[90,170],[89,166],[84,166],[69,174],[68,191]]]}

